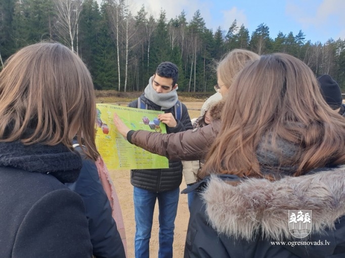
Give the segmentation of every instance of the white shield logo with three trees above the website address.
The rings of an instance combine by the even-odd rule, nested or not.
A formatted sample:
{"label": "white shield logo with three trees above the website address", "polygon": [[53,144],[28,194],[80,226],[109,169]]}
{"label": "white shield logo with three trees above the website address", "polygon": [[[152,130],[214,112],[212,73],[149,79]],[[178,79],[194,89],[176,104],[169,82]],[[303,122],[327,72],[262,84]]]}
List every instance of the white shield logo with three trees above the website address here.
{"label": "white shield logo with three trees above the website address", "polygon": [[289,231],[297,238],[304,238],[312,231],[311,210],[289,210]]}

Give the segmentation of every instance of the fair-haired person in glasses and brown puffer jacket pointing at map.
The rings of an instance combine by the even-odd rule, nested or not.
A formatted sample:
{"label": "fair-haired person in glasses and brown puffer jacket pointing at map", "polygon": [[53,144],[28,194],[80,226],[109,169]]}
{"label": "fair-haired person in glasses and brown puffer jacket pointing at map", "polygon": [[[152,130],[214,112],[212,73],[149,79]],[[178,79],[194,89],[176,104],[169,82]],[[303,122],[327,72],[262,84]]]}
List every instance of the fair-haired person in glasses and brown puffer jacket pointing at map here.
{"label": "fair-haired person in glasses and brown puffer jacket pointing at map", "polygon": [[[245,49],[233,49],[217,65],[218,85],[215,89],[223,98],[226,97],[236,75],[248,63],[258,60],[260,56]],[[212,122],[201,128],[184,132],[161,134],[145,130],[130,130],[121,119],[114,114],[114,124],[126,139],[152,153],[167,157],[169,160],[194,161],[205,158],[209,147],[217,136],[224,101],[218,103],[212,114]]]}

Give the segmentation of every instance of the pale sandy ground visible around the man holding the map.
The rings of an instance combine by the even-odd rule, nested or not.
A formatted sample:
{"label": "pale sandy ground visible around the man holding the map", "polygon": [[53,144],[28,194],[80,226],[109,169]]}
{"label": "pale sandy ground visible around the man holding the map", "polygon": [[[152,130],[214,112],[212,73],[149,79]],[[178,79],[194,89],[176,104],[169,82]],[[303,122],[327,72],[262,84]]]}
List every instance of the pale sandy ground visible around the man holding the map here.
{"label": "pale sandy ground visible around the man holding the map", "polygon": [[[203,102],[184,102],[189,109],[188,113],[191,118],[198,117],[200,111],[192,109],[200,109]],[[133,186],[130,183],[130,170],[113,170],[110,171],[116,193],[118,195],[122,216],[124,220],[126,239],[127,239],[127,258],[134,257],[134,235],[136,230],[134,220],[134,205],[133,205]],[[180,190],[186,188],[184,179],[180,186]],[[150,257],[158,257],[158,203],[155,206],[153,217],[153,226],[150,240]],[[187,194],[180,194],[177,217],[175,220],[175,235],[174,235],[174,258],[182,258],[186,240],[187,226],[189,220],[189,211],[187,203]]]}

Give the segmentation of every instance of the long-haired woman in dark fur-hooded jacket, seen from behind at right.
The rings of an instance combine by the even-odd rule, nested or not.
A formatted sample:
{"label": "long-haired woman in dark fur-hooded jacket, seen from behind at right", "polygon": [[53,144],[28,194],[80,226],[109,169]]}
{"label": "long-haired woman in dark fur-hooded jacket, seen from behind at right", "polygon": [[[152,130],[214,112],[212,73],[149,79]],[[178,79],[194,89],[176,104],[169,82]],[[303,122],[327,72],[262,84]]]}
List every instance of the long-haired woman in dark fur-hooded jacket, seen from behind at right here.
{"label": "long-haired woman in dark fur-hooded jacket, seen from behind at right", "polygon": [[224,109],[185,258],[345,255],[345,121],[311,69],[262,56],[238,74]]}

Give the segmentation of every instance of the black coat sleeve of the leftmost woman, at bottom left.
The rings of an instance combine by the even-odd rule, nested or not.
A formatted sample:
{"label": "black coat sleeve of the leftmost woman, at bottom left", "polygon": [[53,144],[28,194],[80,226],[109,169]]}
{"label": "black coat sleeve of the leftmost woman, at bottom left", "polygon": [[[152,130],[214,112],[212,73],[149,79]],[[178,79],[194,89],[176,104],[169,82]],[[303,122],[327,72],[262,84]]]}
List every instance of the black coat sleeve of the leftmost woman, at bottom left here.
{"label": "black coat sleeve of the leftmost woman, at bottom left", "polygon": [[52,191],[32,206],[19,227],[12,251],[16,258],[91,256],[84,205],[69,189]]}

